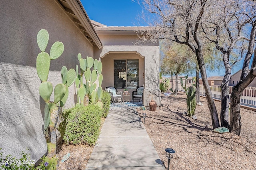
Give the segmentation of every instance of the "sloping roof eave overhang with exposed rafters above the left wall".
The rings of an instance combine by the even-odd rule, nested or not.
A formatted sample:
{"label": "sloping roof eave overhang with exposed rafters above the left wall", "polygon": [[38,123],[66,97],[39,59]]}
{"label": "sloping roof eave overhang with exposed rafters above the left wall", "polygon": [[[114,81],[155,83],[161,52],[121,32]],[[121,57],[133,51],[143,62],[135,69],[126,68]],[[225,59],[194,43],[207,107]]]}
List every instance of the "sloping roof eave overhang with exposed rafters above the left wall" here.
{"label": "sloping roof eave overhang with exposed rafters above the left wall", "polygon": [[76,27],[92,45],[102,48],[102,43],[80,0],[56,0]]}

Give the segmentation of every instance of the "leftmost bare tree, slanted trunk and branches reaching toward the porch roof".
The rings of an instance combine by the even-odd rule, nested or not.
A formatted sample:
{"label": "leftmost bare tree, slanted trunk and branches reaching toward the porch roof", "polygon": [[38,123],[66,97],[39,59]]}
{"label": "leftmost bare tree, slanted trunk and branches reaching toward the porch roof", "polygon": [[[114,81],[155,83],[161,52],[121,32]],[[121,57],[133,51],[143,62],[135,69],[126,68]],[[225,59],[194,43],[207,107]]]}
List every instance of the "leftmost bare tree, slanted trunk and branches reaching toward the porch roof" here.
{"label": "leftmost bare tree, slanted trunk and branches reaching toward the porch roof", "polygon": [[201,22],[205,12],[212,11],[208,0],[144,0],[144,8],[154,14],[155,34],[145,34],[148,39],[167,39],[187,45],[196,55],[210,110],[213,128],[220,127],[218,112],[212,98],[203,56],[203,35]]}

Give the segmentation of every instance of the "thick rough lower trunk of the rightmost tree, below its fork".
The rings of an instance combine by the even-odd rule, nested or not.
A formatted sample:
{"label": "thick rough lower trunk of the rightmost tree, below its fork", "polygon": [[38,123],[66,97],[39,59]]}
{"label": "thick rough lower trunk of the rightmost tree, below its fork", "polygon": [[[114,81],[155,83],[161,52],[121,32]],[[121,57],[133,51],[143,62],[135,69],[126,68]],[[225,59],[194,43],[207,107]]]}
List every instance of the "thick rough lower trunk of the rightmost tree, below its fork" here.
{"label": "thick rough lower trunk of the rightmost tree, below its fork", "polygon": [[230,129],[229,131],[240,135],[241,133],[241,114],[240,114],[240,93],[238,88],[234,86],[232,88],[230,96]]}

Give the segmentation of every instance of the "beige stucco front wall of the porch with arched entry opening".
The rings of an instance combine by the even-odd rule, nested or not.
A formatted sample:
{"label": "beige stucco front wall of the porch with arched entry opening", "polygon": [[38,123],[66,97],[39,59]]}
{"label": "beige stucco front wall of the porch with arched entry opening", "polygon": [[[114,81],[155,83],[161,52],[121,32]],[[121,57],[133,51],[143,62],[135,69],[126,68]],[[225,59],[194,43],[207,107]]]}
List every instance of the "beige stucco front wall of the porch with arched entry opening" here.
{"label": "beige stucco front wall of the porch with arched entry opening", "polygon": [[[115,53],[126,54],[125,57],[140,56],[138,57],[138,58],[141,58],[140,64],[142,59],[144,58],[144,63],[143,63],[144,68],[143,67],[140,68],[140,76],[141,76],[141,73],[143,72],[145,73],[145,76],[144,76],[145,89],[143,93],[143,105],[148,106],[151,100],[155,100],[157,102],[157,105],[160,106],[161,97],[160,97],[160,89],[159,89],[159,63],[160,63],[159,43],[134,45],[137,39],[137,34],[135,32],[133,32],[133,34],[135,35],[132,35],[131,33],[129,35],[122,34],[121,31],[112,33],[112,35],[109,35],[109,34],[111,33],[107,33],[107,31],[98,32],[100,40],[102,41],[102,44],[103,44],[103,48],[102,50],[99,50],[98,52],[95,53],[95,58],[97,58],[96,56],[98,56],[99,60],[102,60],[102,64],[104,64],[104,62],[112,63],[112,65],[109,65],[108,68],[104,68],[104,66],[106,67],[106,64],[104,64],[102,68],[102,69],[108,69],[107,74],[112,75],[112,82],[108,78],[106,80],[106,76],[103,75],[105,78],[103,77],[102,86],[106,86],[107,84],[114,86],[114,79],[113,79],[114,57],[112,56],[118,57],[118,55],[116,55]],[[106,74],[106,73],[104,73],[103,71],[103,74]],[[141,82],[143,81],[141,81],[141,77],[140,77],[139,83],[141,84]]]}

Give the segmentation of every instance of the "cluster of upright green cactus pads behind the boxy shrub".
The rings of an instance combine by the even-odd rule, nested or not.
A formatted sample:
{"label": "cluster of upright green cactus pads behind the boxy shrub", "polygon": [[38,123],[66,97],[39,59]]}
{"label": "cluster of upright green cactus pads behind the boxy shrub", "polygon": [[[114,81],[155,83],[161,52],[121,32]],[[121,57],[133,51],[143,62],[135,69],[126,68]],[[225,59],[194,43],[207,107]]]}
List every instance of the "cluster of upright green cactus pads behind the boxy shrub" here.
{"label": "cluster of upright green cactus pads behind the boxy shrub", "polygon": [[[103,76],[102,72],[102,63],[97,59],[93,59],[92,57],[86,57],[86,59],[82,59],[81,54],[78,54],[78,60],[80,64],[80,74],[78,74],[78,65],[76,65],[76,89],[78,94],[78,104],[84,105],[84,99],[89,98],[91,96],[92,103],[95,102],[96,94],[98,94],[99,101],[96,103],[102,107],[102,80]],[[93,69],[91,71],[91,68]],[[86,80],[86,83],[83,83],[83,76]],[[98,78],[99,87],[96,89],[97,84],[95,83]],[[80,102],[79,102],[80,98]]]}

